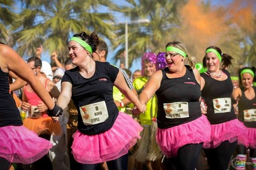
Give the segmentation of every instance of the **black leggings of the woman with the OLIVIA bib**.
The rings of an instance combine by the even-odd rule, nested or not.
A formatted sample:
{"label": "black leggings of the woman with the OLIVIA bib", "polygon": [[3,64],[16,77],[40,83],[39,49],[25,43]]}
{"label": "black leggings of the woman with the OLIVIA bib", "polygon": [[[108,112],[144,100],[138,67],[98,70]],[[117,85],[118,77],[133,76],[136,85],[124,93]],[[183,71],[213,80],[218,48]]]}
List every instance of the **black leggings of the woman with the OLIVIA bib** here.
{"label": "black leggings of the woman with the OLIVIA bib", "polygon": [[[128,153],[118,159],[107,161],[109,170],[127,170]],[[100,164],[80,164],[79,170],[101,170]]]}

